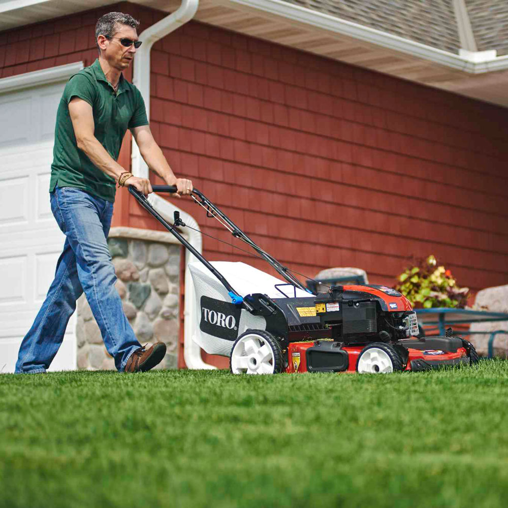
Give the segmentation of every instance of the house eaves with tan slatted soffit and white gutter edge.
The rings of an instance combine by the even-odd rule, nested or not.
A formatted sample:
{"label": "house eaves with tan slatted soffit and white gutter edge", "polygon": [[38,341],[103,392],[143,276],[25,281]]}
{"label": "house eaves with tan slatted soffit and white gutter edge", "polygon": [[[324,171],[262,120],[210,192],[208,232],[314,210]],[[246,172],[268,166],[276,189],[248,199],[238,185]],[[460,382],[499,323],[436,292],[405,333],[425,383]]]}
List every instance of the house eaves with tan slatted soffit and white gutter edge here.
{"label": "house eaves with tan slatted soffit and white gutter edge", "polygon": [[[21,3],[23,0],[18,1]],[[180,5],[175,0],[131,1],[166,12],[171,12]],[[110,3],[90,0],[86,9]],[[33,22],[27,21],[28,14],[35,16],[38,13],[47,19],[81,11],[84,7],[84,4],[76,1],[47,0],[3,13],[0,16],[0,30],[7,27],[9,15],[16,14],[16,25],[19,25]],[[55,12],[47,16],[50,11]],[[23,23],[19,21],[20,16],[25,19]],[[508,85],[508,76],[501,72],[508,70],[508,56],[496,57],[493,53],[477,55],[475,52],[461,52],[457,55],[280,0],[201,0],[194,19],[391,76],[508,106],[508,97],[499,93],[500,85]],[[496,77],[495,83],[492,82],[492,76]]]}

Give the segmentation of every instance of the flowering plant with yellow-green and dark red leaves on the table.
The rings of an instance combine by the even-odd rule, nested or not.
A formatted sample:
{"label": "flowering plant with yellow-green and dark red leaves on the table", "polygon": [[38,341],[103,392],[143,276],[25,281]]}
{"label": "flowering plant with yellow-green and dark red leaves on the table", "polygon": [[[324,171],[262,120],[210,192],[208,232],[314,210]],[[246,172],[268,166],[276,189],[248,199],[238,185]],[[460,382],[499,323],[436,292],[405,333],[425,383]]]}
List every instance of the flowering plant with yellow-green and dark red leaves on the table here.
{"label": "flowering plant with yellow-green and dark red leaves on the table", "polygon": [[415,308],[456,307],[464,308],[469,288],[459,288],[450,270],[438,266],[430,255],[419,258],[414,266],[397,277],[397,291],[402,293]]}

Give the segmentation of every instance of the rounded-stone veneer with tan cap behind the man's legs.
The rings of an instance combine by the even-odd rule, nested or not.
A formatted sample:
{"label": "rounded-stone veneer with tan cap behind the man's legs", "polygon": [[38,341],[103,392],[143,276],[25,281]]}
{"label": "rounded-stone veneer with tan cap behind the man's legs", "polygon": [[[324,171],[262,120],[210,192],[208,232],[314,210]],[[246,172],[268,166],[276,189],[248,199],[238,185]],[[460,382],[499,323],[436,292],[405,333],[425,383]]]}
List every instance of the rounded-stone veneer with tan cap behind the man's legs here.
{"label": "rounded-stone veneer with tan cap behind the man's legs", "polygon": [[[138,233],[137,236],[155,236],[164,241],[112,237],[110,233],[108,246],[118,277],[116,290],[141,344],[148,343],[149,347],[156,341],[166,343],[166,358],[156,368],[175,369],[178,364],[181,247],[167,243],[172,242],[172,238],[167,240],[164,234],[158,232]],[[77,312],[78,368],[114,370],[113,358],[106,351],[101,331],[84,294],[78,300]]]}

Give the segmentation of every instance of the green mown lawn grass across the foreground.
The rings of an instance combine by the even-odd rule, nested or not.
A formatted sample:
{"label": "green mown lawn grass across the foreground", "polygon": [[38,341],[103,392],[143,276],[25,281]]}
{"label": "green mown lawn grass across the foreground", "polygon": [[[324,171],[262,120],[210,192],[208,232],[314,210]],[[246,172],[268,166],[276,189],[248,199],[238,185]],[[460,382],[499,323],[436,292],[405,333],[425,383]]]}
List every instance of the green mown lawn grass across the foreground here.
{"label": "green mown lawn grass across the foreground", "polygon": [[0,375],[0,506],[504,507],[508,362]]}

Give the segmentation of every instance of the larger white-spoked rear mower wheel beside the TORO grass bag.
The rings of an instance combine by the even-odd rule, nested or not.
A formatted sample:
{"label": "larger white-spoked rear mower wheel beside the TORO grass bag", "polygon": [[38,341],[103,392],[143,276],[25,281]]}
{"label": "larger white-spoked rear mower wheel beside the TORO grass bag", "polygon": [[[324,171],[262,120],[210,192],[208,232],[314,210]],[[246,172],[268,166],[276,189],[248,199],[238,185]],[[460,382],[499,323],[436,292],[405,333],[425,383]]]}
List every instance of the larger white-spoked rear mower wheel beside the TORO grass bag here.
{"label": "larger white-spoked rear mower wheel beside the TORO grass bag", "polygon": [[264,330],[247,330],[233,344],[229,368],[233,374],[280,372],[282,353],[277,339]]}

